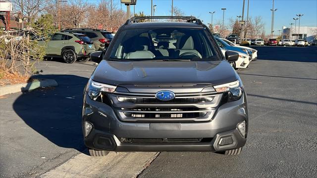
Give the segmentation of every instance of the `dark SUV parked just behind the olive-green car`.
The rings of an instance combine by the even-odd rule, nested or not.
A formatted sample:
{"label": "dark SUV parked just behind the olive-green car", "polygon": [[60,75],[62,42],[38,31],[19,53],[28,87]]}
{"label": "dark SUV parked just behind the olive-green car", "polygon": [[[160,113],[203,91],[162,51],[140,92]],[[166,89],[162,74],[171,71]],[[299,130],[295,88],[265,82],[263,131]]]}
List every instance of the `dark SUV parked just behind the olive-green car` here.
{"label": "dark SUV parked just behind the olive-green car", "polygon": [[113,39],[111,32],[106,30],[74,28],[65,29],[63,32],[75,32],[87,35],[94,42],[96,50],[104,50],[110,45]]}

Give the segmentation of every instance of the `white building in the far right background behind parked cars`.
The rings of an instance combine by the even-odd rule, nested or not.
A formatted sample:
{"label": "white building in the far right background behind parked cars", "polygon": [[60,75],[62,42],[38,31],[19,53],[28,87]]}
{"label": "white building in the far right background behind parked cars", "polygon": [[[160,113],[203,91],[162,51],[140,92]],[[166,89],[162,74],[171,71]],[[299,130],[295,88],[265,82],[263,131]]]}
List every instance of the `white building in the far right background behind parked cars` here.
{"label": "white building in the far right background behind parked cars", "polygon": [[[314,32],[316,31],[317,27],[300,27],[298,29],[298,26],[295,29],[295,26],[292,26],[292,29],[290,31],[290,27],[283,27],[283,39],[291,39],[291,40],[297,40],[297,39],[304,39],[307,41],[311,41],[314,39]],[[289,38],[291,37],[291,38]]]}

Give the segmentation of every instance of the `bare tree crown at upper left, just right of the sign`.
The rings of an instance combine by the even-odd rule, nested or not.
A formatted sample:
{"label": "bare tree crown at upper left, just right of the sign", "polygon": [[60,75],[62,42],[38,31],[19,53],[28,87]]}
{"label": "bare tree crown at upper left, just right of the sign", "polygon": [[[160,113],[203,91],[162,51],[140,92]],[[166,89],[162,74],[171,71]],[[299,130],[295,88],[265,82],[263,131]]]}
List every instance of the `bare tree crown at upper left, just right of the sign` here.
{"label": "bare tree crown at upper left, just right of the sign", "polygon": [[[10,1],[15,7],[15,12],[21,11],[21,0]],[[31,22],[48,7],[48,0],[23,0],[23,15],[28,18],[28,22]]]}

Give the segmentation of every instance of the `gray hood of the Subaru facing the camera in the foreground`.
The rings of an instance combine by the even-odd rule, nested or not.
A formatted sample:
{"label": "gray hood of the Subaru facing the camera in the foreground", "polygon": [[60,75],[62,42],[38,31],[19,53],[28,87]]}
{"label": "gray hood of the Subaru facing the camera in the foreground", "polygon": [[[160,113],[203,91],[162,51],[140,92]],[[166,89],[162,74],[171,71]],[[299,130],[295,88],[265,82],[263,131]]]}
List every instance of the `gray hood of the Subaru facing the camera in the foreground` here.
{"label": "gray hood of the Subaru facing the camera in the foreground", "polygon": [[238,74],[227,61],[135,61],[103,60],[92,80],[109,85],[122,84],[211,84],[233,82]]}

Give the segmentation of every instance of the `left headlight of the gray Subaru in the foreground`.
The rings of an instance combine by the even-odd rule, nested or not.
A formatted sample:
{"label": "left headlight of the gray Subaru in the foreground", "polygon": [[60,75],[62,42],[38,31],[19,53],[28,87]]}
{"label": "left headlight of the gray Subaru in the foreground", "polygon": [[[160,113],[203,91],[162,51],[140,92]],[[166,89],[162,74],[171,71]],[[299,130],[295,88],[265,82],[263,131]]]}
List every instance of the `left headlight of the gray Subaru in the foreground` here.
{"label": "left headlight of the gray Subaru in the foreground", "polygon": [[101,92],[112,93],[115,91],[116,88],[117,88],[116,86],[102,84],[90,79],[87,92],[89,97],[96,101],[96,99],[101,95]]}

